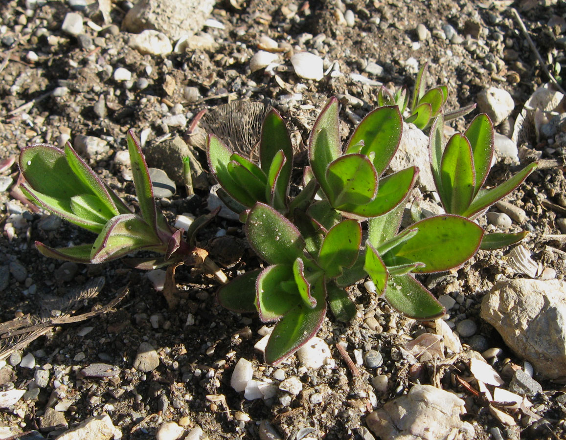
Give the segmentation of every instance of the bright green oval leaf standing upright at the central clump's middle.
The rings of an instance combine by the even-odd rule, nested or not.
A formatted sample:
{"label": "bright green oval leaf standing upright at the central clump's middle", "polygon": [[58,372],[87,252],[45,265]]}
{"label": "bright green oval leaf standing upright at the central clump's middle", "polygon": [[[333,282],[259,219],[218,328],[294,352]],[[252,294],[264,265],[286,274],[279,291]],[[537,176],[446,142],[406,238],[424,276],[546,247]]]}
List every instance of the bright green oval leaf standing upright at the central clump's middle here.
{"label": "bright green oval leaf standing upright at the central clump's middle", "polygon": [[324,237],[318,263],[328,277],[337,277],[342,268],[349,268],[358,257],[362,241],[362,227],[353,219],[346,219],[333,226]]}

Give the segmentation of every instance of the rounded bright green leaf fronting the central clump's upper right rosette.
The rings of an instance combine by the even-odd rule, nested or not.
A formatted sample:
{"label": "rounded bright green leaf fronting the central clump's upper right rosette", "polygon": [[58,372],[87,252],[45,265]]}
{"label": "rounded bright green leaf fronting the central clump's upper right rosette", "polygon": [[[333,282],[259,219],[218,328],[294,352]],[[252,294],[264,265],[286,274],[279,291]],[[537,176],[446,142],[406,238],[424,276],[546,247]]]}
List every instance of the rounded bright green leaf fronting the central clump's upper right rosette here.
{"label": "rounded bright green leaf fronting the central clump's upper right rosette", "polygon": [[378,175],[363,154],[338,157],[328,165],[326,180],[331,191],[327,193],[328,200],[338,209],[345,204],[366,204],[378,191]]}

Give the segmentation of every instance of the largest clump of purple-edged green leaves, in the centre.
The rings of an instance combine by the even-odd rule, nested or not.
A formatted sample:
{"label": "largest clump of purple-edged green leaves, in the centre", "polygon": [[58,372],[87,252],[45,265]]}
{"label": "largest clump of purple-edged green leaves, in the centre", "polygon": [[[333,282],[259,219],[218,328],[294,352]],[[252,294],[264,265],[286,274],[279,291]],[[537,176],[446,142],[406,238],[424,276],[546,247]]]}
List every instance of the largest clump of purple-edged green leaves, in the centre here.
{"label": "largest clump of purple-edged green leaves, in the centre", "polygon": [[[484,124],[474,125],[469,133],[475,131],[490,136]],[[231,310],[257,311],[262,321],[277,322],[265,349],[267,363],[277,364],[314,336],[327,305],[338,320],[351,320],[355,305],[346,288],[367,276],[378,294],[409,317],[424,320],[444,313],[414,274],[464,264],[479,249],[484,231],[457,215],[461,212],[448,211],[399,231],[419,172],[413,166],[385,174],[401,135],[400,110],[382,106],[341,146],[338,102],[331,98],[312,129],[310,166],[295,197],[288,190],[293,149],[276,110],[265,118],[259,164],[243,161],[209,136],[211,171],[225,189],[228,205],[246,223],[252,248],[266,263],[222,286],[218,299]],[[452,173],[458,166],[444,164]],[[368,238],[362,241],[365,221]]]}

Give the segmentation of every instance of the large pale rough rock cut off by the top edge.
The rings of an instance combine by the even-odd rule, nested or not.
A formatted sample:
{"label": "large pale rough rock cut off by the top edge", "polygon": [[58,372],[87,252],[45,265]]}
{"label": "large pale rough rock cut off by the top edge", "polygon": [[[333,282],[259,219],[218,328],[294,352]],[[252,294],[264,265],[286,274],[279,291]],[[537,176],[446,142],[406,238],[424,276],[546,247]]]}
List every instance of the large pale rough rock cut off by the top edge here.
{"label": "large pale rough rock cut off by the top edge", "polygon": [[122,25],[133,33],[155,29],[177,41],[200,31],[215,3],[215,0],[139,0],[128,11]]}

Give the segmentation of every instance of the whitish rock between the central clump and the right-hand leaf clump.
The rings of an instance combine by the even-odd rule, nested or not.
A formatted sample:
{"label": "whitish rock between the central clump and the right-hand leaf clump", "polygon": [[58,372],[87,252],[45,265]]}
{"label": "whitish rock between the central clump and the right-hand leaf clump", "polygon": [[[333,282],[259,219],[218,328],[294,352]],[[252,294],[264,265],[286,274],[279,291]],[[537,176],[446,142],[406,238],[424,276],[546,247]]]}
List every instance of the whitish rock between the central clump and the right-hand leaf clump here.
{"label": "whitish rock between the central clump and the right-hand leaf clump", "polygon": [[426,191],[436,191],[430,170],[428,136],[414,124],[404,122],[401,143],[389,166],[393,171],[400,171],[413,165],[418,166],[420,170],[417,184]]}

